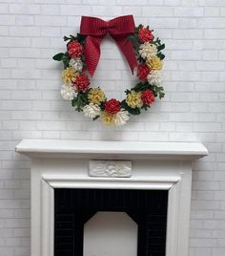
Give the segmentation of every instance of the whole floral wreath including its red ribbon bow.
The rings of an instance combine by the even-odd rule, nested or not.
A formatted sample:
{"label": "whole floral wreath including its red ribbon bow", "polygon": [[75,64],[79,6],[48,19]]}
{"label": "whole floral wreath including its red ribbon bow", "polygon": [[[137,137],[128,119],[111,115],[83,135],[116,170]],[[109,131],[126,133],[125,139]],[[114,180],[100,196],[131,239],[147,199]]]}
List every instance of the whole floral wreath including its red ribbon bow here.
{"label": "whole floral wreath including its red ribbon bow", "polygon": [[[126,98],[119,101],[107,99],[100,87],[90,87],[90,75],[93,75],[100,57],[100,43],[110,33],[124,53],[130,67],[137,66],[139,82],[126,90]],[[63,86],[61,96],[72,100],[72,107],[82,111],[85,117],[93,120],[101,117],[107,125],[123,125],[131,115],[139,115],[153,104],[155,97],[162,98],[161,51],[165,48],[159,38],[153,36],[149,26],[134,26],[133,16],[127,15],[106,22],[99,18],[82,17],[81,31],[76,36],[64,36],[67,52],[57,53],[54,60],[63,61]]]}

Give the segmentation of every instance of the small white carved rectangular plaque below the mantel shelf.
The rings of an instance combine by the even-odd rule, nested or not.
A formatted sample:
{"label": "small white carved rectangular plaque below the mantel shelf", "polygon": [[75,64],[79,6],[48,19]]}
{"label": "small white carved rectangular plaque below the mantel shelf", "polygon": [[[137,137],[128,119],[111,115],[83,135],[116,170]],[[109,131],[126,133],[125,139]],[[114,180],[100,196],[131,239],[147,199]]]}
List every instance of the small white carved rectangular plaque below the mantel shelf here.
{"label": "small white carved rectangular plaque below the mantel shelf", "polygon": [[131,177],[132,161],[129,160],[90,160],[92,177]]}

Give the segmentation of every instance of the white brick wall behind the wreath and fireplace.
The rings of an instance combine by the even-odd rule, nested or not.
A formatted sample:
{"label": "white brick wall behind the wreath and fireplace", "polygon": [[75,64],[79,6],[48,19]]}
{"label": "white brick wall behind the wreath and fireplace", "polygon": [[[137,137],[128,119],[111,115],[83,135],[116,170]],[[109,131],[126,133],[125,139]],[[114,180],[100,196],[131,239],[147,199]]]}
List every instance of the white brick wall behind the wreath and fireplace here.
{"label": "white brick wall behind the wreath and fireplace", "polygon": [[[80,15],[135,15],[166,43],[166,97],[127,126],[103,127],[59,96],[63,35]],[[0,0],[0,255],[29,256],[30,160],[20,139],[202,141],[194,163],[190,256],[225,255],[225,1]],[[122,98],[133,84],[113,41],[102,44],[93,84]],[[180,255],[182,256],[182,255]]]}

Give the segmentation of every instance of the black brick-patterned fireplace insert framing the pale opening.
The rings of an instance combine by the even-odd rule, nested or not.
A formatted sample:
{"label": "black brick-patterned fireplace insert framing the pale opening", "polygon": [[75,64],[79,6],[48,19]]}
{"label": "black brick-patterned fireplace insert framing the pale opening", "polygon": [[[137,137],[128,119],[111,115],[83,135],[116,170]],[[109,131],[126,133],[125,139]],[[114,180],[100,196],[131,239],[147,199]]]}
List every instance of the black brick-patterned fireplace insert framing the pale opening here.
{"label": "black brick-patterned fireplace insert framing the pale opening", "polygon": [[54,189],[54,256],[83,256],[84,224],[99,211],[138,225],[137,256],[166,255],[167,190]]}

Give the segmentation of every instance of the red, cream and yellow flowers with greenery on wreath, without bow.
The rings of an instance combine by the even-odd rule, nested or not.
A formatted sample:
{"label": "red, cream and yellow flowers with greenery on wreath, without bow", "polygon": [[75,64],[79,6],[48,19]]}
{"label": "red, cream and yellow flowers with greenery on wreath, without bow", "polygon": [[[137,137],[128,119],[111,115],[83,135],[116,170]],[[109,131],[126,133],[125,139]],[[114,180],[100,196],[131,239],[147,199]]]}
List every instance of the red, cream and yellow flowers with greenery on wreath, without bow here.
{"label": "red, cream and yellow flowers with greenery on wreath, without bow", "polygon": [[127,90],[126,97],[119,101],[115,98],[107,99],[100,87],[90,87],[90,79],[85,71],[85,39],[86,36],[64,37],[67,52],[53,56],[54,60],[63,61],[63,85],[61,96],[72,101],[75,110],[82,111],[85,117],[97,119],[107,125],[124,125],[131,115],[139,115],[141,110],[147,110],[155,97],[164,96],[161,87],[161,69],[165,48],[159,38],[154,38],[153,31],[143,25],[135,28],[131,35],[133,51],[138,62],[136,75],[139,82],[132,89]]}

